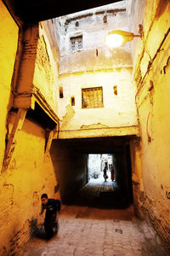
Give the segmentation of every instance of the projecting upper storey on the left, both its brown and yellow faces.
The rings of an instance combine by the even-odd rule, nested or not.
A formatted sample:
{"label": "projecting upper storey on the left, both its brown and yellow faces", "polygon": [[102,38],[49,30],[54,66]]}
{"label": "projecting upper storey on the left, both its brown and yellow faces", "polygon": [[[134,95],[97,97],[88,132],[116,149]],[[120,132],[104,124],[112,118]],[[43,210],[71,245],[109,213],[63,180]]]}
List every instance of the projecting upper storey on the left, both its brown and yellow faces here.
{"label": "projecting upper storey on the left, both its brown and yellow faces", "polygon": [[47,20],[26,25],[22,37],[23,52],[15,86],[15,95],[19,96],[15,106],[23,108],[26,96],[38,92],[42,101],[48,102],[48,107],[57,114],[59,50],[54,24]]}

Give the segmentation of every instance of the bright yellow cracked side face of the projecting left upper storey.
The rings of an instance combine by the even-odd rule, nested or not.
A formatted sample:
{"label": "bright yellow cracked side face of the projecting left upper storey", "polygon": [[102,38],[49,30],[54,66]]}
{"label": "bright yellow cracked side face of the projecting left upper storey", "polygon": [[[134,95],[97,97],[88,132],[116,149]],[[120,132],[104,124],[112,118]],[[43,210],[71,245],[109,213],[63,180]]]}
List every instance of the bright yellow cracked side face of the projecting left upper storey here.
{"label": "bright yellow cracked side face of the projecting left upper storey", "polygon": [[41,91],[50,107],[57,113],[59,50],[53,20],[39,23],[38,37],[33,85]]}

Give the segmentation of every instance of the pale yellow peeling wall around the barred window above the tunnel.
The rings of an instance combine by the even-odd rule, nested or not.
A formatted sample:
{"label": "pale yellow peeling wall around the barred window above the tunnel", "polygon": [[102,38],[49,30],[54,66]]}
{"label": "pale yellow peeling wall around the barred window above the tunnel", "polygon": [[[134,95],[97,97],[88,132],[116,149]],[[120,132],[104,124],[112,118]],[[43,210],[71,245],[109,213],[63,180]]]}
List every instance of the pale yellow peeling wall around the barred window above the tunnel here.
{"label": "pale yellow peeling wall around the barred window above the tunnel", "polygon": [[[136,89],[131,83],[130,68],[60,75],[59,83],[64,95],[58,100],[59,118],[62,119],[59,137],[62,134],[75,137],[121,135],[119,127],[127,127],[125,134],[128,134],[130,126],[138,125],[134,101]],[[114,85],[117,95],[114,95]],[[103,87],[104,108],[82,108],[82,88],[98,86]],[[71,106],[71,96],[75,97],[75,106]],[[67,135],[67,131],[71,135]],[[132,132],[138,133],[138,129]]]}

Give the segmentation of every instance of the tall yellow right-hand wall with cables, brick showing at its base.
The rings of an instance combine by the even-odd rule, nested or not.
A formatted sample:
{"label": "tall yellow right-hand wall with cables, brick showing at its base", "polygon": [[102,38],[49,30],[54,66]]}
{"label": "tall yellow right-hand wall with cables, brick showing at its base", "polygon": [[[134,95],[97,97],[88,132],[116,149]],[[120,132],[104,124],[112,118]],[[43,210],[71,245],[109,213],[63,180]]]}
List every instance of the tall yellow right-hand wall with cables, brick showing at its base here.
{"label": "tall yellow right-hand wall with cables, brick showing at its base", "polygon": [[169,1],[146,1],[144,38],[136,48],[138,58],[134,61],[144,183],[141,210],[167,247],[170,241],[169,13]]}

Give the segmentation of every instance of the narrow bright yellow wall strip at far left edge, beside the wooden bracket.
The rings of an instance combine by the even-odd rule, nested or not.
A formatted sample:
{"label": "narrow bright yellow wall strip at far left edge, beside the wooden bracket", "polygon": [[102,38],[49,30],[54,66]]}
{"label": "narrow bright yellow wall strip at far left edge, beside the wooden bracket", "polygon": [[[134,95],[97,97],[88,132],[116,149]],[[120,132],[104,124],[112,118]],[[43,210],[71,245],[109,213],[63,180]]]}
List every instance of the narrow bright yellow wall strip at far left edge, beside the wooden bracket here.
{"label": "narrow bright yellow wall strip at far left edge, beside the wooden bracket", "polygon": [[[6,119],[8,110],[12,106],[13,96],[11,95],[11,80],[14,70],[14,61],[18,45],[19,27],[16,25],[8,10],[0,1],[0,170],[3,165],[5,149]],[[8,60],[8,61],[7,61]]]}

